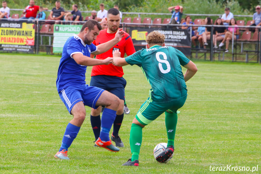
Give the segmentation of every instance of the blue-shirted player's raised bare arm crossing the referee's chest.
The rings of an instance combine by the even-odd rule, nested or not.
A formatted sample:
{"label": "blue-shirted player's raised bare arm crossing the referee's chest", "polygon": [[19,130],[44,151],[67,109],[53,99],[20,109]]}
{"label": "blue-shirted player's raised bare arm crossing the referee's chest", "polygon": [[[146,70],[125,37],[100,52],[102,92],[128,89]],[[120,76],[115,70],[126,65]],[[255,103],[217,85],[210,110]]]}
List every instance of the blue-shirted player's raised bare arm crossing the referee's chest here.
{"label": "blue-shirted player's raised bare arm crossing the referee's chest", "polygon": [[98,55],[98,54],[102,54],[106,51],[108,51],[109,49],[111,49],[114,45],[116,45],[119,41],[122,40],[122,38],[125,36],[124,31],[122,30],[122,28],[120,28],[116,34],[115,37],[103,44],[100,44],[97,46],[97,51],[93,52],[93,55]]}

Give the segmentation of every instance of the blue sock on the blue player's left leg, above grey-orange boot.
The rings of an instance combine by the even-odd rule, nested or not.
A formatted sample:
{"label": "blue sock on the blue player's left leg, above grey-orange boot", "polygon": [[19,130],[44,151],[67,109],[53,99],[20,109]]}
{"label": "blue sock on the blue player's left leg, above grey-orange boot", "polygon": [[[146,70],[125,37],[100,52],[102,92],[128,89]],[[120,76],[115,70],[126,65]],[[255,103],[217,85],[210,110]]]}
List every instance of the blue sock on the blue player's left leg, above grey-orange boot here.
{"label": "blue sock on the blue player's left leg, above grey-orange boot", "polygon": [[64,132],[64,137],[62,140],[62,145],[59,149],[59,152],[62,151],[63,149],[68,150],[68,148],[71,146],[73,140],[76,138],[78,132],[80,130],[80,127],[74,126],[71,123],[68,123],[65,132]]}

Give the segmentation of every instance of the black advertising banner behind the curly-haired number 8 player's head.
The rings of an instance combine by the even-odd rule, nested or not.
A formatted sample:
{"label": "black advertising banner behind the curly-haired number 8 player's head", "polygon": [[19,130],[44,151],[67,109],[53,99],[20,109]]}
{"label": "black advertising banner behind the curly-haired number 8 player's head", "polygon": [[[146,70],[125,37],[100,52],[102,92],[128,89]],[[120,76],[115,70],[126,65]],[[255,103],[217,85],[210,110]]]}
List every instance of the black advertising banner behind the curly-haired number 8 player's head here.
{"label": "black advertising banner behind the curly-haired number 8 player's head", "polygon": [[176,28],[137,28],[130,27],[129,34],[132,38],[135,50],[138,51],[146,46],[146,35],[152,31],[165,34],[165,45],[172,46],[186,56],[191,56],[190,33],[187,30]]}

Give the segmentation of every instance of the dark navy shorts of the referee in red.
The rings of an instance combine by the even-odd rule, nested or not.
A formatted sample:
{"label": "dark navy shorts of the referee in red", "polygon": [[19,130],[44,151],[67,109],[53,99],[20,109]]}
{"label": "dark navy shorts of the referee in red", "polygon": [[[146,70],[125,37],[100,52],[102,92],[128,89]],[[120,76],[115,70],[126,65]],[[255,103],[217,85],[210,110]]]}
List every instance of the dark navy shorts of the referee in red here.
{"label": "dark navy shorts of the referee in red", "polygon": [[126,80],[123,77],[98,75],[92,76],[90,86],[99,87],[125,100]]}

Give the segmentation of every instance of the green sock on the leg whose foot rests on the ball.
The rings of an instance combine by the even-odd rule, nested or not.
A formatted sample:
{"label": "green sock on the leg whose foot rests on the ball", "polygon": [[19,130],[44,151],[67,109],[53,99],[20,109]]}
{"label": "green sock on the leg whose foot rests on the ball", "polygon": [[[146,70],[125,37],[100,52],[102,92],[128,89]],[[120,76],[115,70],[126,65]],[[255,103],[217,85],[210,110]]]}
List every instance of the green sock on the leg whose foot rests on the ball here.
{"label": "green sock on the leg whose foot rests on the ball", "polygon": [[177,122],[178,122],[178,115],[176,113],[165,112],[165,125],[166,125],[167,135],[168,135],[167,146],[171,146],[171,145],[174,146]]}

